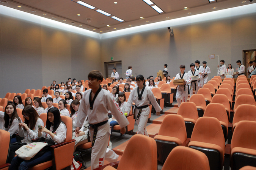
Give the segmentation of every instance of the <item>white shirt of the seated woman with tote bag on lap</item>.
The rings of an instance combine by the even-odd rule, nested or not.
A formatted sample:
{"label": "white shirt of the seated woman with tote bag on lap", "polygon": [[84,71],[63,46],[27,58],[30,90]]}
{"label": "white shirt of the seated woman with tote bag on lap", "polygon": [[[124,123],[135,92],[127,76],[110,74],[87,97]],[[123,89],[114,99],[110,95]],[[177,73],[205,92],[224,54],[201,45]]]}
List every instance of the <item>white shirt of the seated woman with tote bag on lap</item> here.
{"label": "white shirt of the seated woman with tote bag on lap", "polygon": [[[53,130],[53,126],[50,127],[50,131]],[[62,142],[64,142],[64,140],[67,137],[67,128],[66,125],[64,125],[63,123],[61,123],[59,125],[59,127],[57,128],[56,131],[52,132],[53,134],[55,134],[53,141],[55,142],[55,144],[60,144]],[[45,132],[42,132],[42,136],[40,136],[39,138],[46,138],[46,139],[52,139],[51,136]]]}

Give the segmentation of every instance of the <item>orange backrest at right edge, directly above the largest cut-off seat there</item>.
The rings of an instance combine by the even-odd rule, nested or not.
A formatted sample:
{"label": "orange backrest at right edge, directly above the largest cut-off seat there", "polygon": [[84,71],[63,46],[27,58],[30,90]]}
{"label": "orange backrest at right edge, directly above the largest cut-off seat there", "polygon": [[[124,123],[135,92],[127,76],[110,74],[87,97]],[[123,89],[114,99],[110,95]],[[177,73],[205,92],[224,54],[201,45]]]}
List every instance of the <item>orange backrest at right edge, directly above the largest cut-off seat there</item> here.
{"label": "orange backrest at right edge, directly above the largest cut-off seat there", "polygon": [[234,114],[233,124],[239,121],[256,121],[256,106],[254,105],[239,105]]}

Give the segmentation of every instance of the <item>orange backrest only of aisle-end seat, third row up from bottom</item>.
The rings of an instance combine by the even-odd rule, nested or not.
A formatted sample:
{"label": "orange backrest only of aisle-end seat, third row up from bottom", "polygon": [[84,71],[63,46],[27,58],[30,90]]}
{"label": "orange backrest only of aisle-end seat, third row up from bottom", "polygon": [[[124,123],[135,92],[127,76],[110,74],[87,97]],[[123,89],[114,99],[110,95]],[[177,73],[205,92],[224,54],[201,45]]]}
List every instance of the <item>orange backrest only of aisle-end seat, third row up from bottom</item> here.
{"label": "orange backrest only of aisle-end seat, third row up from bottom", "polygon": [[197,121],[198,112],[197,112],[196,104],[192,102],[182,102],[181,105],[179,106],[177,115],[181,115],[183,118],[193,119]]}

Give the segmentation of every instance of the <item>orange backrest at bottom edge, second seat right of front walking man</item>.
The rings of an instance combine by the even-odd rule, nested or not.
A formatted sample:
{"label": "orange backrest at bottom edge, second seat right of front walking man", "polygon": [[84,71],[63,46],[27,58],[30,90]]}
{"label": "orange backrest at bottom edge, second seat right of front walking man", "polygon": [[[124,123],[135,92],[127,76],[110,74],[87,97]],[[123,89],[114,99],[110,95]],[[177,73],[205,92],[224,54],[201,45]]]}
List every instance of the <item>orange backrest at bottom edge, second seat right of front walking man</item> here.
{"label": "orange backrest at bottom edge, second seat right of front walking man", "polygon": [[201,151],[188,147],[177,146],[171,150],[171,153],[168,155],[162,167],[162,170],[188,169],[210,170],[207,156]]}

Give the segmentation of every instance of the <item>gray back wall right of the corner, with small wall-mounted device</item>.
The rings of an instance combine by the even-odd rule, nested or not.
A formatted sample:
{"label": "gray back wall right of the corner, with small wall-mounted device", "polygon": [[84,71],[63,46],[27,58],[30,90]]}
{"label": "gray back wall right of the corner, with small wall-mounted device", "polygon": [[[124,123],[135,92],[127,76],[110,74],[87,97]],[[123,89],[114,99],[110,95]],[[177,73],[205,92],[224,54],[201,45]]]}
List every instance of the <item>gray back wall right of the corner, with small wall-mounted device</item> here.
{"label": "gray back wall right of the corner, with small wall-mounted device", "polygon": [[[132,65],[133,76],[143,74],[157,76],[166,63],[171,77],[179,73],[179,66],[190,70],[190,63],[199,60],[207,62],[211,72],[217,75],[217,60],[209,60],[210,54],[220,56],[225,64],[231,63],[234,70],[236,61],[242,60],[242,51],[256,49],[256,13],[209,22],[193,23],[173,27],[171,37],[167,28],[139,32],[126,36],[101,40],[102,67],[110,56],[122,60],[122,68]],[[123,72],[124,72],[123,71]]]}

